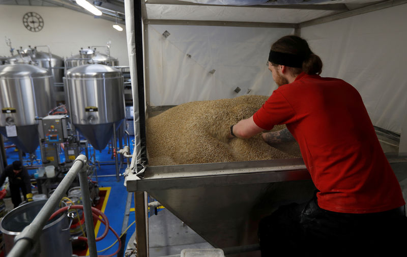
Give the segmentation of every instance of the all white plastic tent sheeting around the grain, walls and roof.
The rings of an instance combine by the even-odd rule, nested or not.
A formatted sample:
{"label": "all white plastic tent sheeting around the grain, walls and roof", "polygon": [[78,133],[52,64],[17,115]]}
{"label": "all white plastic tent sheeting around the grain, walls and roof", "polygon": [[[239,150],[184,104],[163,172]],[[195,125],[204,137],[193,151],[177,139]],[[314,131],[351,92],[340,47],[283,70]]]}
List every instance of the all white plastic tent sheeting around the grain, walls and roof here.
{"label": "all white plastic tent sheeting around the grain, walls and roof", "polygon": [[[204,3],[205,0],[190,1]],[[213,4],[208,1],[208,4]],[[370,0],[326,3],[361,4]],[[146,4],[148,19],[298,23],[333,11]],[[301,28],[324,62],[323,76],[338,77],[361,93],[373,125],[401,132],[406,113],[407,4]],[[325,14],[324,14],[325,15]],[[270,95],[270,44],[289,28],[148,25],[149,104]],[[170,36],[164,38],[162,33]],[[188,58],[187,54],[191,55]],[[216,70],[214,74],[209,73]],[[239,94],[233,90],[242,89]]]}

